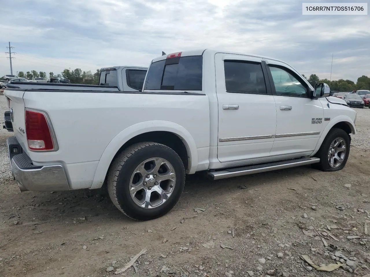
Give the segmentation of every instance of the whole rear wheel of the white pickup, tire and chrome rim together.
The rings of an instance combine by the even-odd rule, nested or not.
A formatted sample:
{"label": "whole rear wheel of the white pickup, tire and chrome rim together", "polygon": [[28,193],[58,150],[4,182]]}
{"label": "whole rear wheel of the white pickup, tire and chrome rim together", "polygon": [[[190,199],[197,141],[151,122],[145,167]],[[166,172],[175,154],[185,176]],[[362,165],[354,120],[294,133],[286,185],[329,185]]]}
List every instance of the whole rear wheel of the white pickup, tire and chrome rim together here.
{"label": "whole rear wheel of the white pickup, tire and chrome rim together", "polygon": [[115,158],[107,183],[109,196],[121,212],[135,220],[151,220],[178,202],[185,184],[184,164],[163,144],[137,143]]}

